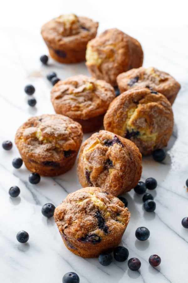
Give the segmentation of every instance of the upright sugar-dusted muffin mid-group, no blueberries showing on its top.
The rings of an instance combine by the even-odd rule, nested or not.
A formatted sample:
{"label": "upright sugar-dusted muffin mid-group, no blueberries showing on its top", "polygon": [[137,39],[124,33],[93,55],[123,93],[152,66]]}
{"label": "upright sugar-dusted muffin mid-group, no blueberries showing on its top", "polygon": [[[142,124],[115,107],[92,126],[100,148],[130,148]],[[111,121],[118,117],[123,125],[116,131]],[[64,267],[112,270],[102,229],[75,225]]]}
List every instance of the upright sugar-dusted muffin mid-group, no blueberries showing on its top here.
{"label": "upright sugar-dusted muffin mid-group, no blueberries showing on its top", "polygon": [[84,133],[98,130],[115,98],[114,88],[104,80],[76,75],[55,84],[51,102],[55,112],[82,125]]}

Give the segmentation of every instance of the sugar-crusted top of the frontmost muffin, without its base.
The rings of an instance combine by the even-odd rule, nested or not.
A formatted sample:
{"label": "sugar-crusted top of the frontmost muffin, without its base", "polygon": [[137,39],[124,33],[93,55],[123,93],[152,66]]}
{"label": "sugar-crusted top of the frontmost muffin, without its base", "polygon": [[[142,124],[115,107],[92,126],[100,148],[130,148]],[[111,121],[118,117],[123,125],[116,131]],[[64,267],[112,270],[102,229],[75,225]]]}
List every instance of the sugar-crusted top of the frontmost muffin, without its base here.
{"label": "sugar-crusted top of the frontmost muffin, without its base", "polygon": [[86,187],[70,193],[55,208],[54,218],[61,236],[97,244],[105,235],[124,230],[130,213],[117,197],[99,187]]}

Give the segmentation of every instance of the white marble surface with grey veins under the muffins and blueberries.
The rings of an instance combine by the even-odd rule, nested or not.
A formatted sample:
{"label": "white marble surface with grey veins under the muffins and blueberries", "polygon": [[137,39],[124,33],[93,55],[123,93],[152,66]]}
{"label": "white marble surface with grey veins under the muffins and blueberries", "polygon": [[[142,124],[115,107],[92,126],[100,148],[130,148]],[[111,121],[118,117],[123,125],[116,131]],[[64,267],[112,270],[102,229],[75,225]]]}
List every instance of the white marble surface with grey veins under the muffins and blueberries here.
{"label": "white marble surface with grey veins under the muffins and blueberries", "polygon": [[[128,269],[127,261],[113,262],[104,267],[97,258],[80,258],[66,249],[53,218],[41,214],[45,203],[55,206],[68,193],[81,188],[76,175],[76,164],[69,172],[54,178],[42,177],[38,185],[28,181],[29,171],[23,165],[14,169],[12,160],[19,156],[13,144],[10,151],[0,150],[0,281],[19,282],[62,282],[66,272],[74,271],[81,283],[185,283],[187,282],[188,229],[181,225],[188,216],[188,192],[185,181],[188,178],[188,28],[130,28],[117,26],[136,37],[144,49],[144,66],[155,66],[169,72],[181,84],[181,90],[173,105],[174,131],[165,148],[167,157],[162,163],[151,156],[143,157],[141,180],[156,178],[154,195],[156,210],[147,213],[143,209],[142,196],[132,190],[124,194],[128,200],[131,219],[122,238],[122,245],[128,248],[129,258],[138,257],[139,271]],[[100,31],[107,28],[100,25]],[[50,103],[51,84],[46,75],[57,72],[60,79],[70,75],[88,74],[84,63],[74,65],[58,64],[52,59],[43,66],[39,57],[48,54],[40,36],[40,29],[2,27],[0,38],[0,140],[14,141],[17,128],[32,115],[53,114]],[[36,88],[36,107],[27,104],[24,93],[26,84]],[[84,135],[84,139],[90,134]],[[8,189],[19,186],[20,195],[11,198]],[[147,241],[140,242],[135,230],[145,226],[150,230]],[[19,230],[29,233],[29,241],[20,244],[16,240]],[[161,257],[161,265],[152,268],[148,259],[151,254]]]}

